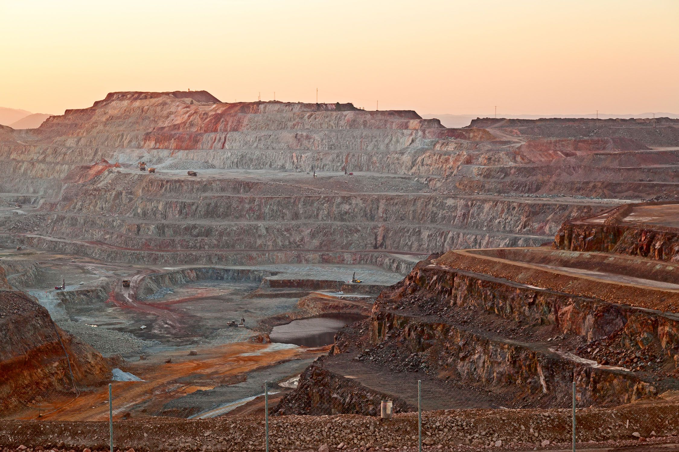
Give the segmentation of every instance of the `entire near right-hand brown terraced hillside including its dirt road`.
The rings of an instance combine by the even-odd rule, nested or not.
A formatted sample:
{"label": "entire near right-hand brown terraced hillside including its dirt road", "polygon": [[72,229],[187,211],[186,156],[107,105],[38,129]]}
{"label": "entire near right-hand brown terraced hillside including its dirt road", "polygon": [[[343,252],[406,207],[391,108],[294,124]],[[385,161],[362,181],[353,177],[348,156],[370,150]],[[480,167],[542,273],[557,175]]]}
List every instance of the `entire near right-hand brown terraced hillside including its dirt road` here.
{"label": "entire near right-hand brown terraced hillside including its dirt road", "polygon": [[[664,225],[675,221],[678,207],[631,205],[572,223],[652,223],[669,234]],[[567,407],[572,382],[581,407],[678,389],[679,266],[659,266],[648,259],[657,256],[615,243],[610,249],[635,257],[547,247],[432,256],[383,291],[367,321],[337,333],[329,356],[302,375],[276,411],[369,415],[376,400],[398,398],[416,379],[449,392],[484,391],[451,397],[439,407],[445,409]],[[405,384],[375,384],[365,366]],[[404,411],[414,408],[403,403]]]}

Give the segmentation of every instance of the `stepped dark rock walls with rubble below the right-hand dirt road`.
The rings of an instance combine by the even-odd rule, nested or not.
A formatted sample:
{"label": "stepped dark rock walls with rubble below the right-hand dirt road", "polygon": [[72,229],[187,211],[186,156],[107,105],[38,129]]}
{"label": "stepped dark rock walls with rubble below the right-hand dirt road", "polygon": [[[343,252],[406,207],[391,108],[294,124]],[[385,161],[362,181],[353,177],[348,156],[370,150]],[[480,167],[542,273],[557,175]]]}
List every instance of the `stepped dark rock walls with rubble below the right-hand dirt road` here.
{"label": "stepped dark rock walls with rubble below the right-hand dirt road", "polygon": [[[676,314],[532,287],[436,262],[420,262],[401,283],[382,292],[369,319],[360,324],[367,335],[356,335],[355,328],[339,331],[330,355],[307,369],[298,389],[281,400],[277,412],[331,414],[357,409],[372,415],[380,399],[394,397],[333,371],[329,364],[346,353],[354,353],[354,361],[381,363],[383,371],[416,369],[422,377],[443,378],[439,381],[447,375],[453,382],[490,390],[509,407],[526,406],[522,405],[526,400],[536,407],[566,407],[572,382],[581,407],[631,403],[675,388],[673,379],[632,372],[594,355],[609,346],[630,356],[655,353],[654,361],[657,356],[665,369],[677,369]],[[555,337],[559,341],[550,344]],[[327,392],[324,399],[314,395],[321,392]]]}

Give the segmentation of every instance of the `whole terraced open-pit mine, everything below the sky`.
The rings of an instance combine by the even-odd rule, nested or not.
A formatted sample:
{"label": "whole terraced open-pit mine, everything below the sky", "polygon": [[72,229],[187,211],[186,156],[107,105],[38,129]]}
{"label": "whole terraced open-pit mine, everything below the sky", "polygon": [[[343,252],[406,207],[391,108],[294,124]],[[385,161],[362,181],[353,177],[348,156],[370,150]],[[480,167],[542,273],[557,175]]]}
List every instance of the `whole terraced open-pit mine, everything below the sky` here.
{"label": "whole terraced open-pit mine, everything below the sky", "polygon": [[115,92],[0,176],[0,447],[107,447],[111,383],[117,449],[263,450],[265,381],[272,450],[418,405],[432,449],[679,443],[679,120]]}

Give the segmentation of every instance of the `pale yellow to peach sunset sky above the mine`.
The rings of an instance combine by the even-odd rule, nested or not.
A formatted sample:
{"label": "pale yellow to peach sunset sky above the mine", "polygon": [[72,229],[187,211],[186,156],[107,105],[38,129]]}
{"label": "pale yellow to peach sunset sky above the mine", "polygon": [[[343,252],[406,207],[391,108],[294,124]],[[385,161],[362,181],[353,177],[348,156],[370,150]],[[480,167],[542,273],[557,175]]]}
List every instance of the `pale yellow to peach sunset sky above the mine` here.
{"label": "pale yellow to peach sunset sky above the mine", "polygon": [[424,113],[679,112],[679,1],[0,0],[0,106],[109,91]]}

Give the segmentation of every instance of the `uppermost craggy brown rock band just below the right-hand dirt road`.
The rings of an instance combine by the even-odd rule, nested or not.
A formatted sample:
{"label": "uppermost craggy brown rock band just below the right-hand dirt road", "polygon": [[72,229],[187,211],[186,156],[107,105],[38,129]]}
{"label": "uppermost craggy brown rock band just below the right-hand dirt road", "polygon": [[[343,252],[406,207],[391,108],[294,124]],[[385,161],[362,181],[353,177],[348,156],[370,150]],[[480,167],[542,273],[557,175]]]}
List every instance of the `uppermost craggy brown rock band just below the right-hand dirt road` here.
{"label": "uppermost craggy brown rock band just below the right-hand dirt road", "polygon": [[[419,266],[405,279],[404,294],[425,290],[439,301],[441,312],[451,306],[472,306],[518,323],[554,325],[587,342],[617,337],[639,350],[656,342],[674,365],[679,354],[679,316],[591,297],[534,288],[483,274]],[[385,307],[384,302],[375,306]]]}

